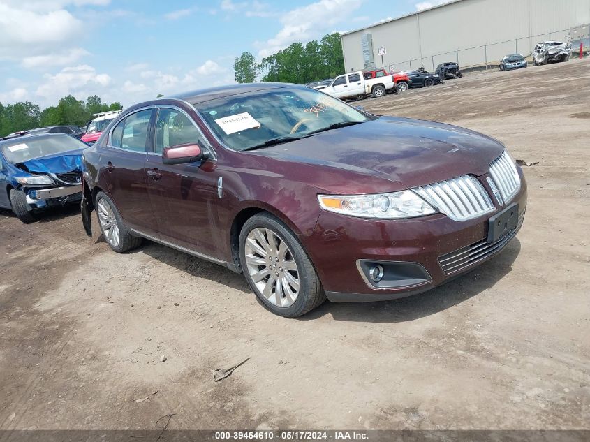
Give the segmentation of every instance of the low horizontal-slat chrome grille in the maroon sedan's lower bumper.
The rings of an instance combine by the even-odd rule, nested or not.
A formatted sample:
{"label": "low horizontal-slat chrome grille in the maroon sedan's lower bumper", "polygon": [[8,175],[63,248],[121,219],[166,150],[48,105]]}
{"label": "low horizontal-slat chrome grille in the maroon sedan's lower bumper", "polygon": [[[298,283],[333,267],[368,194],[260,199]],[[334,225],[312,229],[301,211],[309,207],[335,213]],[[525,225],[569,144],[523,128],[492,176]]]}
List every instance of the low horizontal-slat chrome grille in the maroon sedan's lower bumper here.
{"label": "low horizontal-slat chrome grille in the maroon sedan's lower bumper", "polygon": [[472,264],[477,263],[480,260],[492,256],[494,253],[501,251],[513,237],[515,237],[520,226],[524,221],[524,210],[518,216],[518,225],[515,229],[510,230],[503,237],[500,237],[496,242],[487,242],[487,240],[481,240],[474,242],[470,246],[463,247],[447,253],[438,258],[438,263],[443,268],[443,272],[446,274],[459,272]]}

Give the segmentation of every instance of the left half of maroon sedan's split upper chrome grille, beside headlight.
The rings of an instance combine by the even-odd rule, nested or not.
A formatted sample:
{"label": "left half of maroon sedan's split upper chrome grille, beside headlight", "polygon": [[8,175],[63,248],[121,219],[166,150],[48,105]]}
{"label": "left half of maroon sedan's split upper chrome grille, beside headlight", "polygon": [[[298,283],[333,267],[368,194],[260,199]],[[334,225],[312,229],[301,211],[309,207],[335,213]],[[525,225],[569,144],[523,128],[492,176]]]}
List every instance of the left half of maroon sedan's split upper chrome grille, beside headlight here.
{"label": "left half of maroon sedan's split upper chrome grille, beside headlight", "polygon": [[465,221],[494,211],[484,187],[471,175],[445,179],[412,190],[455,221]]}

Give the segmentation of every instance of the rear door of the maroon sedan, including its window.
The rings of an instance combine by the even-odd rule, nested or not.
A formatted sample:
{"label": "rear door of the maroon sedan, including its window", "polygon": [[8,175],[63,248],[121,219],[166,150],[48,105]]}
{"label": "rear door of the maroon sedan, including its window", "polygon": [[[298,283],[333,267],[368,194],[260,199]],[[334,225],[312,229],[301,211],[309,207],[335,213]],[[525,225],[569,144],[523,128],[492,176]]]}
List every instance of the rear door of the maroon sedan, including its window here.
{"label": "rear door of the maroon sedan, including its window", "polygon": [[[154,109],[140,110],[112,130],[101,155],[101,178],[126,226],[153,233],[156,230],[147,196],[145,160],[147,133]],[[103,187],[104,189],[104,187]]]}

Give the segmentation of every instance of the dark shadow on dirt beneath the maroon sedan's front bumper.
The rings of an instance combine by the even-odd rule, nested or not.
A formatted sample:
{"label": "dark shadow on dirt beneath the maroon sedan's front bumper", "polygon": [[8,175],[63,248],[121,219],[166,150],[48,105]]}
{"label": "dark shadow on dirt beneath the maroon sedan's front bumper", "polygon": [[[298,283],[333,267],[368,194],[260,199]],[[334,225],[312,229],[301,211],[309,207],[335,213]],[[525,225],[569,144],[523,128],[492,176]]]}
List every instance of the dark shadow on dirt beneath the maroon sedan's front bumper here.
{"label": "dark shadow on dirt beneath the maroon sedan's front bumper", "polygon": [[517,238],[510,241],[498,256],[475,267],[471,272],[452,279],[443,286],[419,295],[394,301],[334,303],[325,302],[309,314],[298,318],[309,321],[330,314],[336,321],[369,323],[404,323],[424,318],[460,304],[491,288],[512,270],[520,253]]}

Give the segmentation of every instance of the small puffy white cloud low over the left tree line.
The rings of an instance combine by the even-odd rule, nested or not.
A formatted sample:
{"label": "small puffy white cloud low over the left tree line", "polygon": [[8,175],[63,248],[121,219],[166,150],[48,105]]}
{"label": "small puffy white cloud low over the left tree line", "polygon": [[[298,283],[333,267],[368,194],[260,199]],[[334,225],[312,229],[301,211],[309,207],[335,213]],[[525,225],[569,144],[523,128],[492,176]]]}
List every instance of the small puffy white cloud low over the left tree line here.
{"label": "small puffy white cloud low over the left tree line", "polygon": [[57,74],[44,75],[45,82],[40,84],[36,94],[47,100],[57,101],[62,96],[72,94],[77,98],[89,95],[101,95],[110,84],[110,75],[96,73],[96,69],[87,64],[68,66]]}

